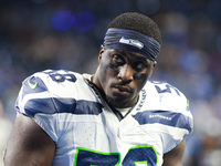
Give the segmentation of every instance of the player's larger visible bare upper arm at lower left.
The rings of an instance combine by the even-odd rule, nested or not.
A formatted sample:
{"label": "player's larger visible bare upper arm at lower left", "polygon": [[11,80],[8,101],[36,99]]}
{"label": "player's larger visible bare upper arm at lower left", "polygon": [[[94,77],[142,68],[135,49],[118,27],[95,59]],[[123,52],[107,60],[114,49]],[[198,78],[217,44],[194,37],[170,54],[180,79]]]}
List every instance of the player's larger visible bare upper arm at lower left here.
{"label": "player's larger visible bare upper arm at lower left", "polygon": [[30,117],[19,114],[8,141],[4,166],[50,166],[55,143]]}

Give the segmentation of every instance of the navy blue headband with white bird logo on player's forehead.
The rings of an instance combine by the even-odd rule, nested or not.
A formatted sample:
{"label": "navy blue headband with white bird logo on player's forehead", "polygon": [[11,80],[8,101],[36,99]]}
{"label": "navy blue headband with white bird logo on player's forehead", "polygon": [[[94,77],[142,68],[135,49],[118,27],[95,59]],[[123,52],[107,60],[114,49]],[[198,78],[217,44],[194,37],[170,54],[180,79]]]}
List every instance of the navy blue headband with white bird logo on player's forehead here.
{"label": "navy blue headband with white bird logo on player's forehead", "polygon": [[152,61],[160,51],[160,44],[155,39],[134,30],[116,28],[107,30],[104,38],[104,48],[137,52]]}

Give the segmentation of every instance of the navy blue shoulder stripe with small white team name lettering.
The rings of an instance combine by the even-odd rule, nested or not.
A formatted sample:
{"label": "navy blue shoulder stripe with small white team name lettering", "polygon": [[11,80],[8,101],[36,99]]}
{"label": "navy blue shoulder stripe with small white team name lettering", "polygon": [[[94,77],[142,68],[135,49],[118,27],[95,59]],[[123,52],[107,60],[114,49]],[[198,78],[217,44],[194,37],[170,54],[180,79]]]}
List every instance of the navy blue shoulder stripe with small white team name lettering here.
{"label": "navy blue shoulder stripe with small white team name lettering", "polygon": [[138,112],[136,115],[133,115],[133,117],[140,125],[160,123],[172,127],[186,128],[189,132],[192,131],[191,118],[181,113],[170,111],[144,111]]}

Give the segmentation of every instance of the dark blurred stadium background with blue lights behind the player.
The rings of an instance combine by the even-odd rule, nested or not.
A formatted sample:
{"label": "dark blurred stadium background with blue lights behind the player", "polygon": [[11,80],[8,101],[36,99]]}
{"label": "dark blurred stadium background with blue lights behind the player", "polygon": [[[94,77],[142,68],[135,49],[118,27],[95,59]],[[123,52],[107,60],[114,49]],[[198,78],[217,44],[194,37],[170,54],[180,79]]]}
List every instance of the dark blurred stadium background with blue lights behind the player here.
{"label": "dark blurred stadium background with blue lights behind the player", "polygon": [[151,80],[190,100],[194,132],[183,166],[221,166],[220,0],[0,0],[0,152],[22,81],[46,69],[93,74],[107,24],[128,11],[149,15],[161,30]]}

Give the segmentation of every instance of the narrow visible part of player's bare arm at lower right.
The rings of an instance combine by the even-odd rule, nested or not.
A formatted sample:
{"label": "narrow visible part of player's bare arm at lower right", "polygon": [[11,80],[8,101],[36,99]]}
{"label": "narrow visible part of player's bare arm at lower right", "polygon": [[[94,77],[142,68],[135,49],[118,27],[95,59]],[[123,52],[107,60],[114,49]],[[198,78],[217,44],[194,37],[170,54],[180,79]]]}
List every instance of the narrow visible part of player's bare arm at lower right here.
{"label": "narrow visible part of player's bare arm at lower right", "polygon": [[162,166],[182,166],[182,157],[185,154],[186,141],[183,139],[172,151],[164,155]]}

